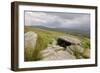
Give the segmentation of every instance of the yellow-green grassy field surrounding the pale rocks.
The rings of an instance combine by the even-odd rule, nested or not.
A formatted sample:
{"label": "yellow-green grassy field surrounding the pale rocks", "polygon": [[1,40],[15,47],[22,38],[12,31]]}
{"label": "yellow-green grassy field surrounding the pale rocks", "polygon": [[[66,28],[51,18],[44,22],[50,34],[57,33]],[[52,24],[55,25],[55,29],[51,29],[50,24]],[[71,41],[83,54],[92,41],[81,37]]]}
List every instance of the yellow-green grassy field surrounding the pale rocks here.
{"label": "yellow-green grassy field surrounding the pale rocks", "polygon": [[69,33],[67,34],[65,32],[50,31],[50,30],[44,30],[44,29],[40,29],[40,28],[25,26],[24,33],[28,32],[28,31],[33,31],[33,32],[37,33],[38,39],[37,39],[37,43],[36,43],[34,52],[31,51],[32,53],[30,54],[29,52],[27,52],[27,50],[25,50],[25,53],[24,53],[25,61],[41,60],[42,56],[40,54],[40,51],[45,49],[48,46],[48,44],[52,43],[53,39],[57,39],[58,36],[71,36],[73,38],[74,37],[78,38],[81,41],[81,46],[83,48],[90,48],[89,38],[87,38],[87,37],[75,36],[75,35],[72,35]]}

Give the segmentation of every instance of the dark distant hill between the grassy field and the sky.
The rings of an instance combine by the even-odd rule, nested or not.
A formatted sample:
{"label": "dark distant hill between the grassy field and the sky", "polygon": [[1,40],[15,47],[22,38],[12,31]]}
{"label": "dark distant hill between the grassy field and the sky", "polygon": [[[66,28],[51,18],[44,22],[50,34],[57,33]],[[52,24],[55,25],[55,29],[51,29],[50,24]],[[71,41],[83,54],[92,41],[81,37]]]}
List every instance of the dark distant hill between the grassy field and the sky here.
{"label": "dark distant hill between the grassy field and the sky", "polygon": [[65,32],[65,33],[70,33],[70,34],[79,35],[79,36],[90,37],[90,30],[89,29],[82,29],[82,28],[49,28],[49,27],[45,27],[45,26],[31,26],[31,27],[41,28],[41,29],[50,30],[50,31]]}

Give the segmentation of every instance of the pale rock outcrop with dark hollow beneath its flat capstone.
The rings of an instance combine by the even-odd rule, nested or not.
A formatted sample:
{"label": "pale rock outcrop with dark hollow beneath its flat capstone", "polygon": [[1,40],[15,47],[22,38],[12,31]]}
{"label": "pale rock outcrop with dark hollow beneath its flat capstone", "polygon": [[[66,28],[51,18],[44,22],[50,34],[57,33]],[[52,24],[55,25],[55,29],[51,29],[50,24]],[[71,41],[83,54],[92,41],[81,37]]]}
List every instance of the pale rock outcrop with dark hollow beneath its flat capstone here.
{"label": "pale rock outcrop with dark hollow beneath its flat capstone", "polygon": [[80,40],[72,37],[60,36],[52,44],[41,51],[43,60],[81,59],[89,57],[87,51],[80,46]]}

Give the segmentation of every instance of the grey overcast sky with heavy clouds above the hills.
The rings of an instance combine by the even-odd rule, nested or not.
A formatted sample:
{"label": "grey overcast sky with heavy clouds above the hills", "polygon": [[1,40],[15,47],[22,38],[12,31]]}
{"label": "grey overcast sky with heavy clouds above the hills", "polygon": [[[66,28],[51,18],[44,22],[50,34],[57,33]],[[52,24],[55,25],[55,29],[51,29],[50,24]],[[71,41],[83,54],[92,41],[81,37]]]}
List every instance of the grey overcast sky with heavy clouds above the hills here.
{"label": "grey overcast sky with heavy clouds above the hills", "polygon": [[25,12],[25,26],[90,29],[90,14]]}

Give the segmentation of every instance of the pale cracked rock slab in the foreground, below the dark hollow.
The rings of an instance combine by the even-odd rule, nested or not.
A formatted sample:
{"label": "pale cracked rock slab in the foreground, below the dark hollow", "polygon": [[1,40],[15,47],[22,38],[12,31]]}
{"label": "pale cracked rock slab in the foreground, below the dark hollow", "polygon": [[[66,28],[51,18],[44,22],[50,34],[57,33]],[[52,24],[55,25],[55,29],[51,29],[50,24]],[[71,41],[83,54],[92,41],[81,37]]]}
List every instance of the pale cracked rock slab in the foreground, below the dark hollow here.
{"label": "pale cracked rock slab in the foreground, below the dark hollow", "polygon": [[41,51],[43,60],[64,60],[75,59],[74,55],[71,55],[68,51],[63,50],[63,47],[58,45],[49,46]]}

